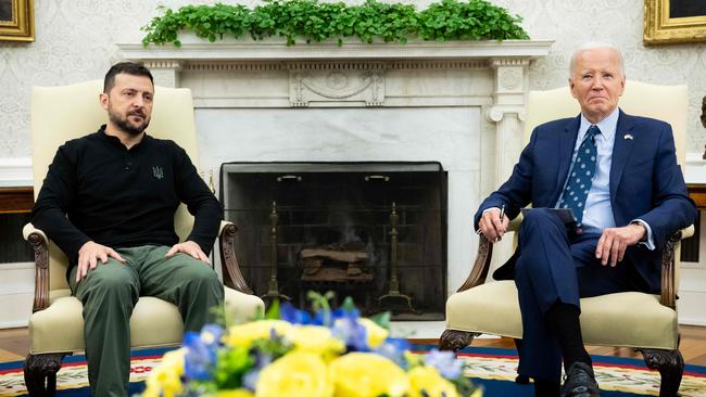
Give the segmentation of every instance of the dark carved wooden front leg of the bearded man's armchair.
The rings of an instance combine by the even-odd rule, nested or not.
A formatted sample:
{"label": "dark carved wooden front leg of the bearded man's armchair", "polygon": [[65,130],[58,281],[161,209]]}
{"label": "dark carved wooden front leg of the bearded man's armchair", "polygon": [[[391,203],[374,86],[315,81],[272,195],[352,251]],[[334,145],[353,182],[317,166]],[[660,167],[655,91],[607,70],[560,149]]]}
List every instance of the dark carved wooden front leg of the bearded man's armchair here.
{"label": "dark carved wooden front leg of the bearded man's armchair", "polygon": [[23,367],[25,386],[30,396],[53,396],[56,393],[56,372],[64,356],[71,353],[28,355]]}

